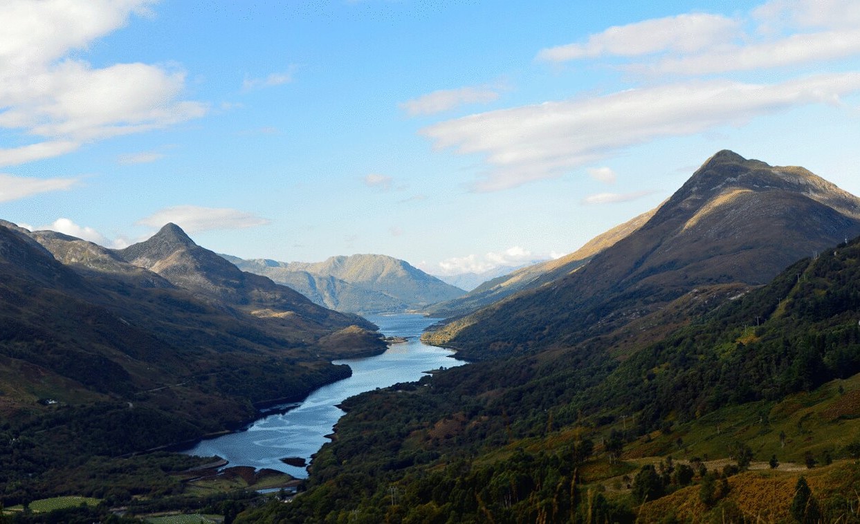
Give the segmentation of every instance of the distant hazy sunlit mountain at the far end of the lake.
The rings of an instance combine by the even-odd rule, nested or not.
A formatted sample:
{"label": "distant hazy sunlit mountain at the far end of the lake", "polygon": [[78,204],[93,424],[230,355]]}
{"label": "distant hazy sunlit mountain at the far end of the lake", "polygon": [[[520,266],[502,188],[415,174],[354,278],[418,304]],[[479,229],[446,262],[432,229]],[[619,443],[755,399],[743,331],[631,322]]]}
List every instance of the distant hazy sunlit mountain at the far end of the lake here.
{"label": "distant hazy sunlit mountain at the far end of the lake", "polygon": [[463,289],[384,255],[338,256],[317,263],[227,259],[243,271],[290,286],[317,304],[349,313],[406,311],[464,294]]}

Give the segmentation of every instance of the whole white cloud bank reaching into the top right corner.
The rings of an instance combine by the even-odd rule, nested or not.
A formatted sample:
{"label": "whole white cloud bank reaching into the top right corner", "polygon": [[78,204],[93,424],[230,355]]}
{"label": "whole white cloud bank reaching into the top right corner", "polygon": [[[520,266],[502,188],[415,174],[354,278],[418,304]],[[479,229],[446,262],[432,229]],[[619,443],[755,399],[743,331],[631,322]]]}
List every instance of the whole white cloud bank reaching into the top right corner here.
{"label": "whole white cloud bank reaching into the top right corner", "polygon": [[[756,30],[744,31],[745,24]],[[622,67],[651,75],[784,68],[860,54],[858,24],[854,0],[774,0],[744,19],[687,14],[610,27],[583,43],[543,49],[537,58],[645,58]]]}

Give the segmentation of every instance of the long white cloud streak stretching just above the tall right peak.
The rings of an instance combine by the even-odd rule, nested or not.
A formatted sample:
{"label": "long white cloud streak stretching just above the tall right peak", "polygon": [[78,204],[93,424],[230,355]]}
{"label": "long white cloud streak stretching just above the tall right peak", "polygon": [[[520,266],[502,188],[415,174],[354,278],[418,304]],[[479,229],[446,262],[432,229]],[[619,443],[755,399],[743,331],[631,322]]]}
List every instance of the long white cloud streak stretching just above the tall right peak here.
{"label": "long white cloud streak stretching just above the tall right peak", "polygon": [[777,84],[713,80],[544,102],[430,125],[436,149],[483,155],[479,192],[555,178],[631,145],[679,137],[860,92],[860,73],[808,76]]}

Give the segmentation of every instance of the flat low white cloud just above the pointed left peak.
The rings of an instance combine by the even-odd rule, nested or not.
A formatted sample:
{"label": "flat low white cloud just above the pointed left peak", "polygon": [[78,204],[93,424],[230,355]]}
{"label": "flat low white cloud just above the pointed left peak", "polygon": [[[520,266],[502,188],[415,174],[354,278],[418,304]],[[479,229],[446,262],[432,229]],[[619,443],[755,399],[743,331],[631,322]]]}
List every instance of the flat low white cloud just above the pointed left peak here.
{"label": "flat low white cloud just above the pointed left peak", "polygon": [[230,208],[200,207],[196,205],[176,205],[159,210],[151,216],[138,220],[137,225],[161,228],[173,222],[187,233],[210,231],[212,229],[255,228],[268,223],[260,216]]}

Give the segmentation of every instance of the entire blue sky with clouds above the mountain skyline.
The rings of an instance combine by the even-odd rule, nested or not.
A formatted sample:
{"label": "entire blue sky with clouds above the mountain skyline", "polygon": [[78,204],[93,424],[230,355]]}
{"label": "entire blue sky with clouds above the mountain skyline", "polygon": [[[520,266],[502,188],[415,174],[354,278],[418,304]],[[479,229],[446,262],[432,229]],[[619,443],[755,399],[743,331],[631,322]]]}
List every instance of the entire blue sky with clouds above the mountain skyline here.
{"label": "entire blue sky with clouds above the mountain skyline", "polygon": [[856,0],[3,0],[0,218],[126,247],[571,253],[710,155],[860,195]]}

